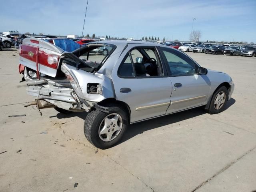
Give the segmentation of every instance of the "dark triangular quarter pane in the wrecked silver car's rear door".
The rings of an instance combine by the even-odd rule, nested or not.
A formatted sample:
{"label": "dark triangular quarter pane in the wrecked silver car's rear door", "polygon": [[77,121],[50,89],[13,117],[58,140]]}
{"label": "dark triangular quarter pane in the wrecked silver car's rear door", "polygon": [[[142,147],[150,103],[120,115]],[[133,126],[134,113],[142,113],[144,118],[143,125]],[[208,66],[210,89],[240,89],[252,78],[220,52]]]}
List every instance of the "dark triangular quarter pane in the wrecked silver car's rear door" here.
{"label": "dark triangular quarter pane in the wrecked silver car's rear door", "polygon": [[134,77],[134,69],[129,54],[127,54],[120,64],[118,75],[122,77]]}

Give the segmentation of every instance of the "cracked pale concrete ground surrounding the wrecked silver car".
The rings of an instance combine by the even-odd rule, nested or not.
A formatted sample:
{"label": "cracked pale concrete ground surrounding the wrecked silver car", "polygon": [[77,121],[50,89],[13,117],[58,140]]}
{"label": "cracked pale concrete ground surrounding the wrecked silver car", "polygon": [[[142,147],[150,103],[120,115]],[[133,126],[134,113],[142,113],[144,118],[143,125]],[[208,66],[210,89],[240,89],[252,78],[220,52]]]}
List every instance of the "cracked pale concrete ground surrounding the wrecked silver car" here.
{"label": "cracked pale concrete ground surrounding the wrecked silver car", "polygon": [[120,144],[100,150],[84,137],[86,112],[25,108],[34,98],[19,83],[18,51],[0,51],[0,192],[256,190],[256,58],[188,55],[230,74],[236,86],[226,110],[132,124]]}

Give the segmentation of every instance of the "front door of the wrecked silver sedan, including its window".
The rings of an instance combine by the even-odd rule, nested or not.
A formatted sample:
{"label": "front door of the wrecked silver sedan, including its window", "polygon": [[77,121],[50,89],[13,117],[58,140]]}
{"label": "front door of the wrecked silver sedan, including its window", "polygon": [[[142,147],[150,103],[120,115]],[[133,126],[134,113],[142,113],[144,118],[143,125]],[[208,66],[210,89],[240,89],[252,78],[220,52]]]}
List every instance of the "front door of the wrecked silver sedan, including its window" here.
{"label": "front door of the wrecked silver sedan, including its window", "polygon": [[167,114],[203,105],[210,91],[207,75],[198,74],[198,65],[186,54],[162,48],[172,82],[171,103]]}

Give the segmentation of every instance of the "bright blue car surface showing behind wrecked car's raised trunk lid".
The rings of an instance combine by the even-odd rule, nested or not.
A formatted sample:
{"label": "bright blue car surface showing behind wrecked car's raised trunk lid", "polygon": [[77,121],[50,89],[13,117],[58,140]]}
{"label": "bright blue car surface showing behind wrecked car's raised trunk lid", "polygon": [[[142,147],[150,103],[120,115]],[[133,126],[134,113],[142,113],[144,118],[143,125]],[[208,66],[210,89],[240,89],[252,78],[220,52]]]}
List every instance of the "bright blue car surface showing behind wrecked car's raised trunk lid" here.
{"label": "bright blue car surface showing behind wrecked car's raised trunk lid", "polygon": [[51,38],[51,39],[46,39],[45,41],[50,42],[51,44],[54,44],[61,48],[64,51],[68,52],[73,52],[76,49],[79,49],[80,44],[72,41],[71,39],[66,39],[66,38]]}

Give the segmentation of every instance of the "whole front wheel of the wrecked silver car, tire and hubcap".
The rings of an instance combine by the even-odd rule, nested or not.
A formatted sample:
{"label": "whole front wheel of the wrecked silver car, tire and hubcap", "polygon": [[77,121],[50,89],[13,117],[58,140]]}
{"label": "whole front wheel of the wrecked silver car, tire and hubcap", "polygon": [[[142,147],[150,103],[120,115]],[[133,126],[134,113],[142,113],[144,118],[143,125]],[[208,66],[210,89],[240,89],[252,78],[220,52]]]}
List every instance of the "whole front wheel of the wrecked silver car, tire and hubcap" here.
{"label": "whole front wheel of the wrecked silver car, tire and hubcap", "polygon": [[228,100],[228,90],[225,86],[218,88],[213,96],[210,106],[206,111],[211,114],[217,114],[225,109],[226,102]]}

